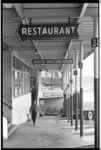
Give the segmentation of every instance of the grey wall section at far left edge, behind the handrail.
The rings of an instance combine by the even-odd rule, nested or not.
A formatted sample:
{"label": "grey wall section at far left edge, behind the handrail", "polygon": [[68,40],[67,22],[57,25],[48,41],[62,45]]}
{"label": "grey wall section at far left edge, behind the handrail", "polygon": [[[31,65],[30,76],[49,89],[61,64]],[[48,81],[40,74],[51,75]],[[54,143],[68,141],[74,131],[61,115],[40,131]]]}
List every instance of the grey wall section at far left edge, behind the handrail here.
{"label": "grey wall section at far left edge, behind the handrail", "polygon": [[[12,51],[3,51],[3,102],[12,106]],[[12,120],[12,109],[3,104],[4,116]]]}

